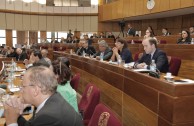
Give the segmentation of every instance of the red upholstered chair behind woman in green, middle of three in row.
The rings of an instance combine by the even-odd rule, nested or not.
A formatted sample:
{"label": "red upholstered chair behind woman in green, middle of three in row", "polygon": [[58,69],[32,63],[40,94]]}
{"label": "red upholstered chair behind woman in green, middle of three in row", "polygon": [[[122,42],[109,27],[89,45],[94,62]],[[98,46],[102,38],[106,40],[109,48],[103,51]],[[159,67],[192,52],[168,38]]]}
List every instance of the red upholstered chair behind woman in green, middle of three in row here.
{"label": "red upholstered chair behind woman in green, middle of three in row", "polygon": [[100,101],[100,90],[93,84],[88,84],[78,104],[78,109],[83,113],[83,122],[88,125],[96,105]]}

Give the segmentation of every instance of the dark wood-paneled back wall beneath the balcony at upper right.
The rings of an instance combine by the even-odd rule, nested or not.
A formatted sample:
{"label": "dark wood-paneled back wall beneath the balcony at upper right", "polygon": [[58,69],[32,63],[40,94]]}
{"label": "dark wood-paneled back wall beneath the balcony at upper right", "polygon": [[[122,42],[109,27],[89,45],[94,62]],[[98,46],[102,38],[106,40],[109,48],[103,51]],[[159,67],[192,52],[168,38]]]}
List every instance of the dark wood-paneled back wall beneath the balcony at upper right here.
{"label": "dark wood-paneled back wall beneath the balcony at upper right", "polygon": [[[129,21],[126,22],[125,33],[128,30],[127,23],[129,23]],[[158,19],[135,20],[130,21],[130,23],[136,30],[142,31],[142,35],[145,34],[145,30],[149,25],[153,27],[156,35],[162,34],[162,28],[168,28],[169,32],[177,34],[180,33],[182,29],[188,29],[190,26],[194,25],[194,14]],[[119,32],[120,27],[118,22],[99,22],[98,30]]]}

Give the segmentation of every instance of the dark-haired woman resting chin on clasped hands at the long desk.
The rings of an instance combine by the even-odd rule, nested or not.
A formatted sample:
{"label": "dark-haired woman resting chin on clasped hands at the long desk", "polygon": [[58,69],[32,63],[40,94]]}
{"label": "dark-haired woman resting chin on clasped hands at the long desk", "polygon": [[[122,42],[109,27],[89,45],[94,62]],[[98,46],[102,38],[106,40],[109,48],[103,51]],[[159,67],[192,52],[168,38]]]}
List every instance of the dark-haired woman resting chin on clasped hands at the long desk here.
{"label": "dark-haired woman resting chin on clasped hands at the long desk", "polygon": [[125,63],[130,63],[133,61],[132,54],[128,49],[126,40],[124,39],[117,39],[115,42],[115,47],[112,49],[112,51],[112,61],[117,61],[118,59],[125,60]]}

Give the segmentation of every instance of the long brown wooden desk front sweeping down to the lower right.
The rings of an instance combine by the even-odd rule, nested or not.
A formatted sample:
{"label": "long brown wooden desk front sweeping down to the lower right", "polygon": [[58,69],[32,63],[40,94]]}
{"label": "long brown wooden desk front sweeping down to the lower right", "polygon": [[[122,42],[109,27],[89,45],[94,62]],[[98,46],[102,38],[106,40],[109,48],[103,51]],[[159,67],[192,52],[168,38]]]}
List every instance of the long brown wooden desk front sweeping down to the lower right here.
{"label": "long brown wooden desk front sweeping down to the lower right", "polygon": [[193,126],[194,84],[175,85],[129,69],[89,58],[69,57],[81,74],[78,91],[91,82],[101,91],[101,102],[112,109],[123,126]]}

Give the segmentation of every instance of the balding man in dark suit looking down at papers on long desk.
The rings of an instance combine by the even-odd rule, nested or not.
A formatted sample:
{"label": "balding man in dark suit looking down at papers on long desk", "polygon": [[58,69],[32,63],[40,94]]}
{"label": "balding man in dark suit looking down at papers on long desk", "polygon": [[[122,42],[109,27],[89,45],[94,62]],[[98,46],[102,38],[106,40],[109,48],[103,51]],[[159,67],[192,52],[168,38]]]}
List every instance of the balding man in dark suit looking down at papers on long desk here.
{"label": "balding man in dark suit looking down at papers on long desk", "polygon": [[166,53],[157,48],[157,41],[153,38],[146,38],[142,42],[145,53],[134,65],[135,68],[150,69],[152,60],[155,60],[156,68],[163,73],[168,72],[168,58]]}

